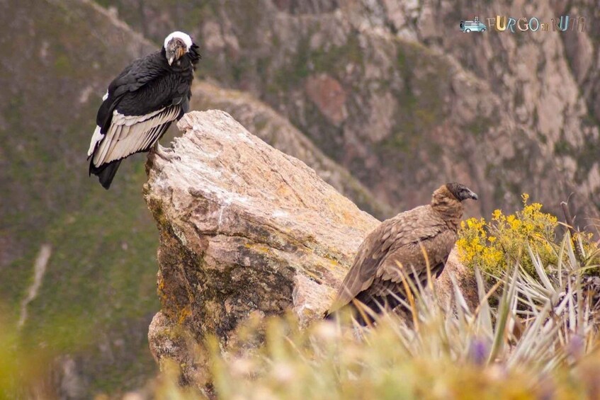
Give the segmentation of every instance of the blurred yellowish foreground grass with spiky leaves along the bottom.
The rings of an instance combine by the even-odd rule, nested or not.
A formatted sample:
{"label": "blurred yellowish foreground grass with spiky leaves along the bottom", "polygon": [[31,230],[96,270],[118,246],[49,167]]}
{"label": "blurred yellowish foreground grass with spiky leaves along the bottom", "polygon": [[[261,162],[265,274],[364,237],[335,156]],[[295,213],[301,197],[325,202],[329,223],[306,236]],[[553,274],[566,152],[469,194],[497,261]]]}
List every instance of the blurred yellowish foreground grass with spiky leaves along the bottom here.
{"label": "blurred yellowish foreground grass with spiky leaves along the bottom", "polygon": [[[475,309],[458,285],[448,304],[429,286],[412,285],[409,317],[387,314],[374,328],[358,328],[349,318],[305,329],[289,315],[251,320],[226,351],[215,338],[198,350],[200,387],[181,388],[181,366],[172,364],[137,396],[599,399],[600,279],[589,274],[598,268],[599,250],[569,234],[520,237],[522,248],[504,254],[497,275],[474,267]],[[11,353],[14,341],[0,332],[0,393],[23,393],[23,387],[35,393],[43,372],[32,367],[35,355]]]}

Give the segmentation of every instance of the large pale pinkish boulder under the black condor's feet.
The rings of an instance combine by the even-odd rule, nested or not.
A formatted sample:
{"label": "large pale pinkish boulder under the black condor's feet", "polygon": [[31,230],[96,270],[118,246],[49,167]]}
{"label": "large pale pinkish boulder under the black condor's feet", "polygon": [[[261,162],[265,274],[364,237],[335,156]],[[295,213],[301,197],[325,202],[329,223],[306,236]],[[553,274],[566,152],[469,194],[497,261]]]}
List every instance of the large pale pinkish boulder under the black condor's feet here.
{"label": "large pale pinkish boulder under the black condor's feet", "polygon": [[[227,113],[188,113],[178,126],[169,155],[147,164],[162,304],[149,343],[159,364],[174,358],[197,383],[191,349],[208,334],[226,348],[251,316],[321,316],[378,220]],[[454,259],[449,270],[465,272]]]}

